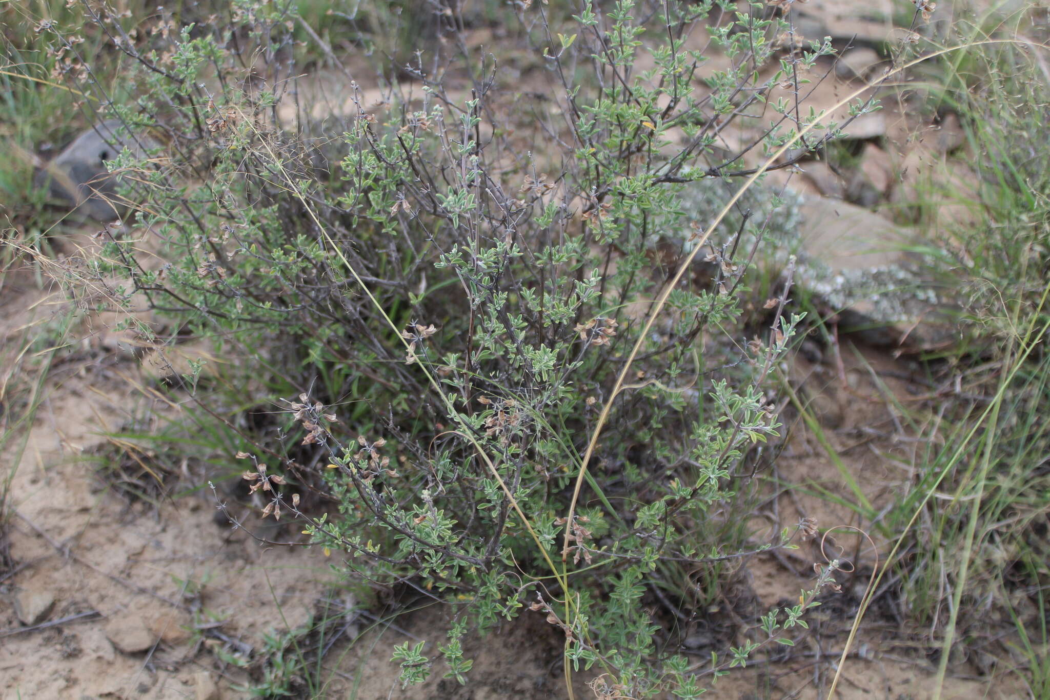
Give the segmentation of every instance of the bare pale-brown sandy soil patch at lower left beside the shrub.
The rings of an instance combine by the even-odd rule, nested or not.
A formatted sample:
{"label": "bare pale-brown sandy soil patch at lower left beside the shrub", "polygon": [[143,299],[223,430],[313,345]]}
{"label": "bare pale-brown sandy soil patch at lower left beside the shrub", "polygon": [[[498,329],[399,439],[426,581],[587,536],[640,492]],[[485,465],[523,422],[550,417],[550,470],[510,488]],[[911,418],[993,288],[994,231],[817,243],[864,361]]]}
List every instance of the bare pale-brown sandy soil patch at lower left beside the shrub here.
{"label": "bare pale-brown sandy soil patch at lower left beside the shrub", "polygon": [[[6,280],[3,297],[5,343],[69,304],[28,278]],[[52,364],[10,485],[0,686],[4,698],[209,697],[210,684],[244,677],[202,648],[247,650],[270,629],[301,624],[331,573],[317,552],[232,531],[210,492],[153,507],[106,488],[88,454],[160,396],[97,321],[82,321]],[[0,455],[5,474],[13,452]],[[69,621],[27,630],[16,602],[44,624]]]}

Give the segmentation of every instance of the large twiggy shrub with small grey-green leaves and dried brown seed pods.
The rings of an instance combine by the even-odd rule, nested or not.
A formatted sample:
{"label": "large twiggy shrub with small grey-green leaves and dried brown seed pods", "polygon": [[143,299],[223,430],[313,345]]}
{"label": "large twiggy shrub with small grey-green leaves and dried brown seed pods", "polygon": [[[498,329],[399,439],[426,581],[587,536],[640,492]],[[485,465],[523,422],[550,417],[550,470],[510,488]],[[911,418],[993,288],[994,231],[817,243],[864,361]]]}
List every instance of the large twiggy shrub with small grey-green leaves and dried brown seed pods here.
{"label": "large twiggy shrub with small grey-green leaves and dried brown seed pods", "polygon": [[[378,80],[383,109],[348,72],[346,113],[319,118],[290,5],[236,0],[201,23],[161,10],[129,31],[85,2],[124,56],[119,99],[77,64],[76,37],[44,27],[126,137],[163,144],[110,163],[138,173],[121,181],[138,206],[86,275],[236,358],[236,403],[284,400],[277,439],[242,430],[261,514],[301,522],[349,576],[453,604],[447,676],[468,676],[467,630],[530,609],[607,690],[697,697],[700,666],[665,651],[677,632],[644,603],[700,606],[730,565],[795,534],[755,544],[743,525],[778,437],[765,380],[800,321],[784,313],[792,263],[763,311],[741,304],[755,250],[795,212],[754,189],[761,215],[727,214],[816,133],[818,115],[768,98],[832,48],[760,4],[488,10],[552,93],[469,45],[479,20],[455,3],[433,46]],[[359,19],[341,18],[344,41],[374,46]],[[704,33],[731,63],[699,89],[709,57],[688,46]],[[761,128],[727,155],[720,135],[744,120]],[[837,133],[819,128],[807,149]],[[234,402],[198,369],[185,387],[229,421]],[[782,630],[834,570],[707,673],[791,643]],[[396,658],[406,683],[429,673],[422,648]]]}

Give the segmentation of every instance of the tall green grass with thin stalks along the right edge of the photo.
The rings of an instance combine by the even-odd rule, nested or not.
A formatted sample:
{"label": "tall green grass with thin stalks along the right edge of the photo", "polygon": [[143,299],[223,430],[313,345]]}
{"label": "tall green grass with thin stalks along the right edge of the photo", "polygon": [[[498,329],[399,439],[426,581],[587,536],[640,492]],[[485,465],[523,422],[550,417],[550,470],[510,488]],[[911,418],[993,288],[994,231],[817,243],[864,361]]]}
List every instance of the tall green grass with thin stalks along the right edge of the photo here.
{"label": "tall green grass with thin stalks along the right edge of the photo", "polygon": [[1050,151],[1041,146],[1050,83],[1046,37],[1031,22],[1038,12],[953,28],[949,43],[963,48],[940,56],[931,92],[966,131],[944,170],[956,157],[972,171],[968,213],[945,225],[942,208],[964,195],[936,175],[909,203],[939,243],[928,272],[953,292],[967,341],[927,358],[937,385],[954,390],[924,410],[892,407],[922,447],[879,518],[894,543],[883,574],[898,577],[910,619],[940,646],[936,697],[952,650],[1018,673],[1033,697],[1050,692]]}

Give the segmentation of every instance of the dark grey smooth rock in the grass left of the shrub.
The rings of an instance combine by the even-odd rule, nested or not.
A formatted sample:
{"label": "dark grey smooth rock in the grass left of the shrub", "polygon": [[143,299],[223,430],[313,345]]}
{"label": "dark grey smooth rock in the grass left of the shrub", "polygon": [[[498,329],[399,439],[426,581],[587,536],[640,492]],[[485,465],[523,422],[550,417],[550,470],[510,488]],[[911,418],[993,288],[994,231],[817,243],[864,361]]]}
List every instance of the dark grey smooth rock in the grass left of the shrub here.
{"label": "dark grey smooth rock in the grass left of the shrub", "polygon": [[120,175],[110,173],[106,163],[125,147],[144,157],[155,146],[148,137],[127,135],[119,120],[109,120],[77,136],[37,175],[36,184],[90,218],[112,221],[124,207],[116,201]]}

